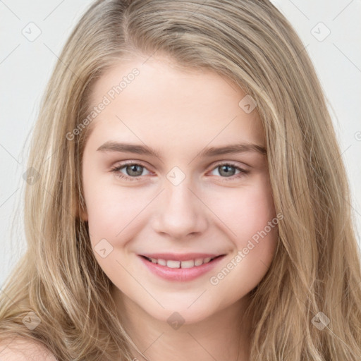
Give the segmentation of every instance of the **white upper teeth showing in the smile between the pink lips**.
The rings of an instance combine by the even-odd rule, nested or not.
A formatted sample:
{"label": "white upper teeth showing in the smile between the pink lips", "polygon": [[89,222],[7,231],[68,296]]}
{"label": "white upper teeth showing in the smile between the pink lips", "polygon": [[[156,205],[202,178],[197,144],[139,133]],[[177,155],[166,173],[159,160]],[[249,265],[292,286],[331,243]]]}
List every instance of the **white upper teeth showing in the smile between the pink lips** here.
{"label": "white upper teeth showing in the smile between the pink lips", "polygon": [[[140,257],[147,260],[152,264],[158,264],[161,267],[171,268],[171,269],[189,269],[193,267],[200,267],[203,264],[209,264],[214,262],[215,259],[219,259],[220,257],[224,257],[224,255],[218,255],[212,257],[173,257],[178,259],[172,259],[171,257],[147,257],[145,255],[141,255]],[[182,258],[182,259],[179,259]]]}

